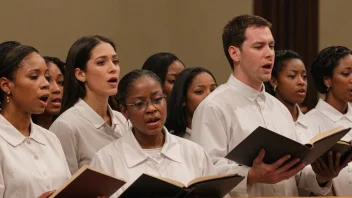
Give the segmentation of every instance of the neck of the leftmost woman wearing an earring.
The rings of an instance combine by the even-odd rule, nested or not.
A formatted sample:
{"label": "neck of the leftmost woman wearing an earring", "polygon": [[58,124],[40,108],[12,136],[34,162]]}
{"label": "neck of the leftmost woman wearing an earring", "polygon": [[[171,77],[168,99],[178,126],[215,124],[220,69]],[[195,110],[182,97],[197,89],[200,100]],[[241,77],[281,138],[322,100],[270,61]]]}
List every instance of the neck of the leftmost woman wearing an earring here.
{"label": "neck of the leftmost woman wearing an earring", "polygon": [[30,113],[23,112],[21,108],[16,108],[13,104],[9,104],[2,108],[1,115],[21,132],[22,135],[27,137],[30,135]]}

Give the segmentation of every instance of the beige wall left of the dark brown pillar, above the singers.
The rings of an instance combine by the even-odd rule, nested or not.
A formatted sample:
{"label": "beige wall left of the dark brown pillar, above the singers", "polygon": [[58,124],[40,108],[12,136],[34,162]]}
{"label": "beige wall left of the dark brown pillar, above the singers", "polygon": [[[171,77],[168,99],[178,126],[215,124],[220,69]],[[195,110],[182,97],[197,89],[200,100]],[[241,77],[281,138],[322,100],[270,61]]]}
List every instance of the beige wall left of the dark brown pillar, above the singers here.
{"label": "beige wall left of the dark brown pillar, above the singers", "polygon": [[[222,50],[225,23],[252,13],[252,0],[12,0],[0,3],[0,42],[18,40],[42,55],[66,58],[89,34],[113,39],[122,75],[153,53],[175,53],[187,66],[210,69],[220,83],[230,67]],[[20,6],[19,6],[20,5]]]}

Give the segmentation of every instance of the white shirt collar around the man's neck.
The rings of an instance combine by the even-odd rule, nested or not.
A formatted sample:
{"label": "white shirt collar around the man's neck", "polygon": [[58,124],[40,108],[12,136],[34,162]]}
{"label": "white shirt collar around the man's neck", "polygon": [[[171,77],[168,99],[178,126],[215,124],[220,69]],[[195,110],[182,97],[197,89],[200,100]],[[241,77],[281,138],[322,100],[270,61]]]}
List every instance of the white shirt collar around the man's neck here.
{"label": "white shirt collar around the man's neck", "polygon": [[232,86],[235,89],[237,89],[239,93],[241,93],[244,97],[246,97],[251,102],[254,102],[258,97],[260,97],[261,99],[263,99],[265,101],[265,87],[264,87],[264,84],[262,84],[262,90],[261,91],[257,91],[255,89],[253,89],[252,87],[249,87],[248,85],[246,85],[243,82],[239,81],[232,74],[231,74],[229,80],[227,81],[227,84],[229,84],[230,86]]}

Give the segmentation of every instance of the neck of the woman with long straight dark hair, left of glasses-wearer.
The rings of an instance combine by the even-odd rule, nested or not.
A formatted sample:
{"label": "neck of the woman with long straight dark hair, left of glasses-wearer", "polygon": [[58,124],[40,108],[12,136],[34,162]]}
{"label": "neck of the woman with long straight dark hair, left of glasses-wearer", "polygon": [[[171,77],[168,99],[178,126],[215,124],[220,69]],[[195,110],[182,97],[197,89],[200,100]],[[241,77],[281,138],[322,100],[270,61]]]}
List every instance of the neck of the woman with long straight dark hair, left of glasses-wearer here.
{"label": "neck of the woman with long straight dark hair, left of glasses-wearer", "polygon": [[87,92],[83,100],[105,121],[110,121],[110,115],[108,114],[108,96],[98,96]]}

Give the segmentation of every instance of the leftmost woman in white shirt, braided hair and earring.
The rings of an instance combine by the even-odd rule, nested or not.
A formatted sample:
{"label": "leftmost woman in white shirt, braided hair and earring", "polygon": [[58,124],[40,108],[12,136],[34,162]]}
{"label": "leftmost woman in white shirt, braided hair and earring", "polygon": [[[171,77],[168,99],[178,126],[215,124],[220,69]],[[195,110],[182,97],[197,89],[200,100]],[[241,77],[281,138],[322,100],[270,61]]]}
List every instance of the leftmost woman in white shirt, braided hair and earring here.
{"label": "leftmost woman in white shirt, braided hair and earring", "polygon": [[0,44],[1,198],[48,197],[70,177],[58,138],[31,121],[47,106],[49,80],[36,49]]}

